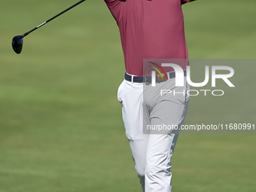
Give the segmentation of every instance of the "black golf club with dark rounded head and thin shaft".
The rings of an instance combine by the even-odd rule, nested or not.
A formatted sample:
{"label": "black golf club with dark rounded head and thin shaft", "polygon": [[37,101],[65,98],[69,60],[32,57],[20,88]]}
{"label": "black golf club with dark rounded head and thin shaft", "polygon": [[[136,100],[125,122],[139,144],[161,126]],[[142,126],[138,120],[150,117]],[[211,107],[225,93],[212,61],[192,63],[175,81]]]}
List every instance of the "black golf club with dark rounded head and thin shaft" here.
{"label": "black golf club with dark rounded head and thin shaft", "polygon": [[75,8],[75,6],[81,4],[81,2],[84,2],[85,0],[81,0],[80,2],[77,2],[75,5],[72,5],[70,8],[67,8],[66,10],[62,11],[61,13],[57,14],[56,16],[50,18],[50,20],[45,21],[44,23],[41,23],[41,25],[35,27],[29,32],[24,33],[23,35],[17,35],[12,40],[12,46],[15,51],[15,53],[20,54],[21,50],[23,49],[23,38],[26,37],[26,35],[29,35],[30,32],[35,31],[35,29],[38,29],[41,26],[44,26],[46,23],[49,23],[51,20],[54,20],[56,17],[59,17],[59,15],[64,14],[66,11],[69,11],[72,8]]}

